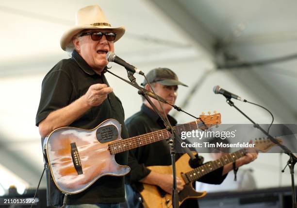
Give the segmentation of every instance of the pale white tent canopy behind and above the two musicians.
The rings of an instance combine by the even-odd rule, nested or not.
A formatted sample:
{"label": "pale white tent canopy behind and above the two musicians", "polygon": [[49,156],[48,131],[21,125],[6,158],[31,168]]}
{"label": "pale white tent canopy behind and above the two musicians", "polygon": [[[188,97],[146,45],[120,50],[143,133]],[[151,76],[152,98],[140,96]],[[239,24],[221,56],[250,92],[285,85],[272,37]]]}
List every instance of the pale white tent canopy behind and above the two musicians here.
{"label": "pale white tent canopy behind and above the two musicians", "polygon": [[[267,106],[277,122],[297,123],[297,61],[216,70],[217,64],[296,53],[294,0],[1,1],[0,163],[31,186],[36,186],[43,168],[40,138],[34,127],[41,81],[58,60],[67,58],[60,49],[60,36],[74,24],[75,12],[91,4],[99,4],[113,26],[126,27],[126,34],[115,44],[117,55],[145,72],[171,68],[189,85],[190,89],[180,87],[177,104],[189,99],[184,107],[190,113],[217,110],[225,122],[247,123],[222,97],[212,93],[214,85],[221,85]],[[217,45],[221,46],[219,50]],[[224,61],[222,54],[226,53],[236,59]],[[121,67],[111,66],[126,77]],[[128,118],[140,107],[137,90],[110,75],[108,79]],[[198,81],[201,84],[195,88]],[[195,93],[188,97],[190,90]],[[257,122],[270,122],[269,115],[259,108],[238,106]],[[191,120],[183,114],[177,118],[180,122]],[[259,161],[255,166],[264,163]]]}

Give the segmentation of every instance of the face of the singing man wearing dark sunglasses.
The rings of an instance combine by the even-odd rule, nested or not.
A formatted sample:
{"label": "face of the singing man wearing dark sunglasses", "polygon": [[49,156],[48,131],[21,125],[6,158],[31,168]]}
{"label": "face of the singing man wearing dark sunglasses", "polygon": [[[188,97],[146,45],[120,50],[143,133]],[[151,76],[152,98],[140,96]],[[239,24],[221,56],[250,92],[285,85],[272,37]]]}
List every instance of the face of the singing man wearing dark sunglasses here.
{"label": "face of the singing man wearing dark sunglasses", "polygon": [[[106,30],[89,30],[86,32],[107,32]],[[91,35],[77,37],[73,40],[77,52],[82,56],[86,63],[96,72],[101,73],[107,66],[107,52],[114,52],[114,41],[106,40],[105,35],[100,40],[92,40]]]}

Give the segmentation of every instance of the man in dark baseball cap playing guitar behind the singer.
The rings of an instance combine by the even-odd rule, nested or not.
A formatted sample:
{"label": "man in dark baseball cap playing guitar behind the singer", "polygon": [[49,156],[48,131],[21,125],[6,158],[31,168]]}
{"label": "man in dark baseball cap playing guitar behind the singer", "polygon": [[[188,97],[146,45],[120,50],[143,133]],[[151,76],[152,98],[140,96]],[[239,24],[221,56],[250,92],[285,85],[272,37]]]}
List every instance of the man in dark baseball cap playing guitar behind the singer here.
{"label": "man in dark baseball cap playing guitar behind the singer", "polygon": [[[174,105],[177,98],[178,86],[187,87],[179,81],[177,75],[167,68],[152,69],[147,74],[148,82],[154,88],[157,95],[163,97],[169,104]],[[144,81],[142,85],[149,91],[152,91],[148,83]],[[151,102],[156,105],[157,109],[164,115],[159,102],[150,98]],[[177,121],[170,115],[169,111],[172,106],[161,103],[172,126],[177,124]],[[165,116],[164,115],[164,116]],[[149,132],[165,129],[165,125],[157,113],[154,112],[147,100],[143,100],[141,110],[126,121],[129,136],[135,137]],[[182,154],[176,154],[176,159],[179,159]],[[244,157],[240,162],[236,163],[236,167],[247,164],[252,161],[250,157]],[[203,159],[197,157],[192,161],[194,166],[201,165]],[[143,183],[159,186],[163,191],[170,193],[172,191],[172,174],[156,173],[147,168],[147,166],[167,166],[171,165],[171,155],[169,145],[166,140],[157,141],[136,149],[129,150],[128,164],[131,167],[130,185],[126,186],[127,204],[129,208],[142,208],[141,197],[139,192],[143,190]],[[192,167],[195,168],[195,167]],[[208,173],[199,179],[200,182],[210,184],[220,184],[226,178],[227,173],[232,170],[232,164],[227,164],[211,173]],[[181,191],[181,178],[177,177],[177,189]],[[148,202],[146,202],[148,203]],[[154,202],[160,203],[160,202]],[[149,205],[148,205],[149,206]],[[197,200],[186,200],[181,204],[181,208],[198,208]]]}

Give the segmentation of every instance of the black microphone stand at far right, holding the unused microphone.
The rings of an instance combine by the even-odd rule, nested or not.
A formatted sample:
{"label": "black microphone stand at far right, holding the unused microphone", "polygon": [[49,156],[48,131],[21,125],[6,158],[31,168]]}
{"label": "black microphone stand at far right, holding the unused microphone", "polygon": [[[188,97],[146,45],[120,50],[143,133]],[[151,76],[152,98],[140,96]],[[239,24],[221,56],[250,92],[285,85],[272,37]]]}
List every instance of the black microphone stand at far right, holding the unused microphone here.
{"label": "black microphone stand at far right, holding the unused microphone", "polygon": [[[292,187],[292,207],[297,208],[296,204],[296,193],[295,193],[295,182],[294,182],[294,166],[297,162],[297,157],[284,145],[282,145],[277,139],[273,138],[268,132],[266,132],[258,123],[251,120],[243,111],[241,111],[234,103],[231,101],[231,96],[224,95],[226,97],[226,102],[231,106],[234,107],[236,110],[238,110],[242,115],[244,115],[249,121],[251,121],[254,124],[254,127],[262,131],[272,142],[277,144],[278,146],[283,149],[284,153],[287,154],[290,158],[287,162],[286,166],[289,166],[290,168],[290,174],[291,174],[291,187]],[[286,167],[285,167],[286,168]]]}

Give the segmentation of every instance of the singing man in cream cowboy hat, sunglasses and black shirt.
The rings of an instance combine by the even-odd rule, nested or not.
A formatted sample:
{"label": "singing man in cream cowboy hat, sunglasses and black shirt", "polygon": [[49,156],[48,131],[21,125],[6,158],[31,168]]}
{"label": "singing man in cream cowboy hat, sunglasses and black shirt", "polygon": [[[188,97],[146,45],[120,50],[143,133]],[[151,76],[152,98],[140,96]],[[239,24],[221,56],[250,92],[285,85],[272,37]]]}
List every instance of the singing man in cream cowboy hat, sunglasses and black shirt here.
{"label": "singing man in cream cowboy hat, sunglasses and black shirt", "polygon": [[[42,82],[36,115],[42,138],[63,126],[93,129],[106,119],[119,121],[121,137],[128,138],[122,104],[103,72],[108,64],[106,53],[114,52],[114,42],[124,33],[124,27],[111,27],[98,5],[77,12],[76,25],[62,35],[60,42],[64,51],[71,52],[71,58],[58,62]],[[126,164],[127,153],[116,154],[115,160]],[[61,205],[62,200],[63,194],[50,178],[48,206]],[[124,177],[103,176],[85,191],[69,195],[66,207],[118,208],[124,201]]]}

